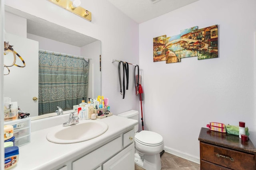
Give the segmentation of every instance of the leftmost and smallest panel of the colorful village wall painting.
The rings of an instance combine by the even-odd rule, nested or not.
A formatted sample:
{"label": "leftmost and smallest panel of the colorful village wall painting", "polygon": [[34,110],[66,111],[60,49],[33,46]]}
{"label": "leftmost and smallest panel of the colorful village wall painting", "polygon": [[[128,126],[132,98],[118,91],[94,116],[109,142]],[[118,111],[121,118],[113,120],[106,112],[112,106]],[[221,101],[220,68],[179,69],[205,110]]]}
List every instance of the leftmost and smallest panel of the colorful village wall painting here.
{"label": "leftmost and smallest panel of the colorful village wall painting", "polygon": [[153,61],[166,61],[166,35],[153,38]]}

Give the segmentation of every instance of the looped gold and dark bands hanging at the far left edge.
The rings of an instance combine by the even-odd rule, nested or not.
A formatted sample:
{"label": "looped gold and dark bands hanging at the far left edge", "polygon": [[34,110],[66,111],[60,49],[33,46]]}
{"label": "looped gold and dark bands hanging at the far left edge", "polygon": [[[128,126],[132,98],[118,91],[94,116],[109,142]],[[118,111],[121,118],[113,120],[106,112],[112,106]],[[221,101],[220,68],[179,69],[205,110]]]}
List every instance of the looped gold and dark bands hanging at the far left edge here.
{"label": "looped gold and dark bands hanging at the far left edge", "polygon": [[[8,53],[12,53],[12,55],[13,55],[13,62],[12,62],[12,64],[9,64],[9,65],[4,64],[4,68],[6,68],[8,70],[8,74],[10,74],[9,67],[17,66],[17,67],[23,68],[23,67],[26,66],[25,61],[22,59],[22,57],[16,51],[14,51],[14,49],[12,47],[13,47],[13,45],[9,45],[9,42],[4,41],[4,55],[7,55]],[[20,66],[20,65],[16,64],[16,55],[22,61],[23,66]],[[8,75],[8,74],[4,74],[4,75]]]}

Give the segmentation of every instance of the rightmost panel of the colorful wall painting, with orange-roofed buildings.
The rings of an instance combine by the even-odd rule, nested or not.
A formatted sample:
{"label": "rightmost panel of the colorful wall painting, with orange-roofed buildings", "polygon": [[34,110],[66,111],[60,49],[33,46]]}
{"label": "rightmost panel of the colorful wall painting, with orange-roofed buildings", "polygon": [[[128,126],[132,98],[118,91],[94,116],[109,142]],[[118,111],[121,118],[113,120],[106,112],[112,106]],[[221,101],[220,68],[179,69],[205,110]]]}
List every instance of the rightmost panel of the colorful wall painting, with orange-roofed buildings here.
{"label": "rightmost panel of the colorful wall painting, with orange-roofed buildings", "polygon": [[198,46],[198,60],[218,57],[218,25],[198,29],[202,45]]}

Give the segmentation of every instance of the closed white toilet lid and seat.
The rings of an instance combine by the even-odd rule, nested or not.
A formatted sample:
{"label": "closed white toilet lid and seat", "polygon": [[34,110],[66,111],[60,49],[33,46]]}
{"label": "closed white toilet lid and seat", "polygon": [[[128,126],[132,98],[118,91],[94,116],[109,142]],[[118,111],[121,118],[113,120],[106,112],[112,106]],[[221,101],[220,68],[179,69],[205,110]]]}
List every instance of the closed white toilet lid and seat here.
{"label": "closed white toilet lid and seat", "polygon": [[135,135],[135,140],[144,145],[160,145],[163,137],[152,131],[140,131]]}

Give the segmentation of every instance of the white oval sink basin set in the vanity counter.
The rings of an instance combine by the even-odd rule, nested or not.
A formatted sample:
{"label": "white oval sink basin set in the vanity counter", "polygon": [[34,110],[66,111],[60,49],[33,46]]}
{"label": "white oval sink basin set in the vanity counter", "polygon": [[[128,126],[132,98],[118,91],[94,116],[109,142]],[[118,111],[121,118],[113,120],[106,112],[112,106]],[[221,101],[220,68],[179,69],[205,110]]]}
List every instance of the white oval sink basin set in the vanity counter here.
{"label": "white oval sink basin set in the vanity counter", "polygon": [[98,120],[82,120],[75,125],[53,127],[46,138],[53,143],[77,143],[98,137],[108,130],[108,125]]}

